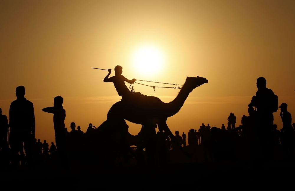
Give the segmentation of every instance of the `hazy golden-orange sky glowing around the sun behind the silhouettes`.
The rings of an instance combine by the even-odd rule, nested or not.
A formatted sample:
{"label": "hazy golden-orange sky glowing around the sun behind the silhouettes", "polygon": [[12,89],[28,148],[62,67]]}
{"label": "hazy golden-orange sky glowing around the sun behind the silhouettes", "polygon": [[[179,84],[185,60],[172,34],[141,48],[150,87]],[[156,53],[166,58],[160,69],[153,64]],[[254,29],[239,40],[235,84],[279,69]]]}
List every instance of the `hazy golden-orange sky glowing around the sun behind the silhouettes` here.
{"label": "hazy golden-orange sky glowing around the sun behind the silhouettes", "polygon": [[[123,67],[128,79],[183,84],[209,82],[189,95],[168,118],[171,131],[221,127],[230,112],[238,126],[255,95],[256,79],[286,102],[295,115],[295,1],[0,1],[0,107],[9,117],[15,88],[34,103],[36,138],[54,141],[53,98],[64,98],[65,124],[99,126],[120,100],[106,71]],[[132,64],[149,46],[162,67],[142,72]],[[111,76],[114,73],[111,74]],[[149,84],[158,85],[158,84]],[[135,91],[173,100],[178,89],[135,84]],[[279,111],[274,113],[282,128]],[[141,126],[128,122],[131,134]]]}

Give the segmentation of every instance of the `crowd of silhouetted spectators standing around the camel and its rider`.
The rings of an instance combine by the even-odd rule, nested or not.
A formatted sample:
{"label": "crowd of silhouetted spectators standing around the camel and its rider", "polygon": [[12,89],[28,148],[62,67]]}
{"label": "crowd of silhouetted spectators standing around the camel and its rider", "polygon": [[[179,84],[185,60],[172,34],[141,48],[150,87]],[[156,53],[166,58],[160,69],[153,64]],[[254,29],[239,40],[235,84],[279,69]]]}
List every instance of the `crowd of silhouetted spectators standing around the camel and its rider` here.
{"label": "crowd of silhouetted spectators standing around the camel and its rider", "polygon": [[[145,144],[148,158],[152,157],[150,161],[153,161],[153,157],[156,155],[158,156],[159,163],[166,163],[168,160],[167,153],[171,150],[174,154],[180,155],[180,150],[177,145],[182,145],[188,152],[194,152],[194,150],[198,150],[198,148],[204,148],[207,153],[211,153],[210,155],[214,158],[213,161],[228,160],[235,158],[235,145],[237,145],[237,140],[242,140],[242,142],[246,143],[247,146],[244,151],[252,156],[250,160],[257,160],[260,154],[262,155],[262,157],[260,157],[261,160],[269,160],[273,158],[276,147],[282,147],[286,158],[293,159],[295,124],[293,124],[293,128],[291,124],[291,114],[287,111],[288,105],[282,103],[280,107],[278,107],[278,97],[271,89],[266,88],[266,80],[263,77],[257,79],[257,87],[258,91],[248,105],[249,115],[242,116],[241,125],[239,127],[235,127],[235,123],[237,122],[236,116],[230,113],[227,118],[227,127],[222,124],[221,128],[211,128],[210,124],[206,126],[203,123],[199,129],[190,129],[188,136],[186,136],[184,132],[179,135],[179,131],[176,131],[175,138],[177,142],[170,141],[172,140],[171,137],[169,137],[161,127],[158,127],[159,131],[155,133],[154,138],[153,132],[150,135],[143,132],[143,134],[141,134],[142,137],[150,136],[146,139],[148,141]],[[35,138],[35,114],[33,103],[24,98],[24,95],[25,88],[23,86],[17,87],[17,99],[11,103],[9,109],[9,123],[8,118],[2,115],[2,110],[0,109],[0,146],[2,163],[9,163],[12,166],[16,166],[19,165],[19,161],[26,158],[24,160],[25,163],[31,166],[36,162],[37,156],[43,156],[45,159],[54,159],[55,156],[58,156],[56,158],[60,160],[61,164],[67,166],[69,156],[70,159],[73,159],[75,158],[73,157],[74,155],[85,155],[85,152],[82,154],[83,150],[87,150],[85,149],[85,142],[91,142],[92,139],[100,139],[99,137],[93,138],[90,135],[98,135],[97,132],[102,132],[106,123],[103,123],[98,128],[89,124],[87,131],[84,133],[81,131],[80,126],[78,126],[76,130],[76,124],[72,122],[70,125],[71,131],[68,132],[64,124],[66,114],[62,105],[63,98],[58,96],[54,98],[53,107],[42,109],[44,112],[53,114],[56,146],[54,142],[51,142],[49,148],[49,144],[46,140],[42,143],[40,139],[37,140]],[[276,112],[278,108],[281,109],[280,116],[283,122],[283,128],[281,130],[278,130],[277,125],[273,124],[273,112]],[[9,145],[7,141],[8,131]],[[107,132],[109,133],[111,130],[105,130],[105,133]],[[110,140],[111,139],[112,142],[115,142],[114,138],[110,138]],[[127,138],[121,136],[121,140],[123,140],[121,145],[123,146],[118,147],[121,148],[121,150],[124,150],[127,144],[125,139]],[[133,139],[135,140],[135,138]],[[186,145],[186,139],[188,145]],[[139,140],[142,139],[139,138]],[[91,142],[91,144],[93,145],[94,143]],[[130,145],[127,146],[130,147]],[[97,148],[98,147],[91,147],[87,152]],[[23,149],[25,150],[26,157],[24,157]],[[157,152],[151,152],[153,150]],[[186,152],[186,150],[181,151]],[[133,151],[130,151],[131,157],[140,160],[140,153],[136,155]],[[140,151],[137,150],[137,152]],[[103,149],[100,150],[100,153],[107,155],[107,151]],[[198,153],[198,155],[207,154]],[[189,155],[187,154],[187,156]],[[76,160],[78,160],[77,157]]]}

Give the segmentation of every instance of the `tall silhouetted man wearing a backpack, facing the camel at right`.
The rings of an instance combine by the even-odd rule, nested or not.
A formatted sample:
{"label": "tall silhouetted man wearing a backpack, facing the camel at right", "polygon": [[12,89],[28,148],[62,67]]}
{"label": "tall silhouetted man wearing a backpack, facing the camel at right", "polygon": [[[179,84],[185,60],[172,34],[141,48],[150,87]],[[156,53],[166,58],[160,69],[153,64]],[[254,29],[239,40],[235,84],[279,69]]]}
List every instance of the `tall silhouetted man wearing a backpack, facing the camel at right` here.
{"label": "tall silhouetted man wearing a backpack, facing the camel at right", "polygon": [[[265,158],[273,156],[273,112],[278,110],[278,97],[266,88],[266,79],[257,79],[256,96],[252,97],[248,107],[257,108],[257,130],[262,152]],[[268,152],[269,151],[269,152]]]}

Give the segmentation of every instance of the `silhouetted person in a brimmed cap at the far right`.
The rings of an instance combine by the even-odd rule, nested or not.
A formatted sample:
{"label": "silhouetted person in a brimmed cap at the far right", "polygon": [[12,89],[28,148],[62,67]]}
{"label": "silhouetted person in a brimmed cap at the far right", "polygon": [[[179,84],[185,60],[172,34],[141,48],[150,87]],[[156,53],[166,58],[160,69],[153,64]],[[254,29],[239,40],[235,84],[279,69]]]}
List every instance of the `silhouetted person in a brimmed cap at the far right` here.
{"label": "silhouetted person in a brimmed cap at the far right", "polygon": [[293,128],[292,128],[292,116],[291,113],[287,111],[288,105],[282,103],[279,107],[281,109],[280,116],[283,121],[283,139],[284,139],[284,151],[286,156],[290,159],[293,158]]}

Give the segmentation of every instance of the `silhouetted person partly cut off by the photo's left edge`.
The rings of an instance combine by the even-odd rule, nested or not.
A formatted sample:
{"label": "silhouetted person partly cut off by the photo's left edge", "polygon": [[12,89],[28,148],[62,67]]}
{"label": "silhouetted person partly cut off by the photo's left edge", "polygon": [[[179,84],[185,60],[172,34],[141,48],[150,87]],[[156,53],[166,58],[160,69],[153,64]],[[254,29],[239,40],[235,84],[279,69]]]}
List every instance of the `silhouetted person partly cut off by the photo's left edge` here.
{"label": "silhouetted person partly cut off by the photo's left edge", "polygon": [[0,161],[5,163],[8,162],[8,142],[7,142],[7,132],[8,132],[8,120],[6,115],[2,115],[2,109],[0,108],[0,148],[1,155]]}

